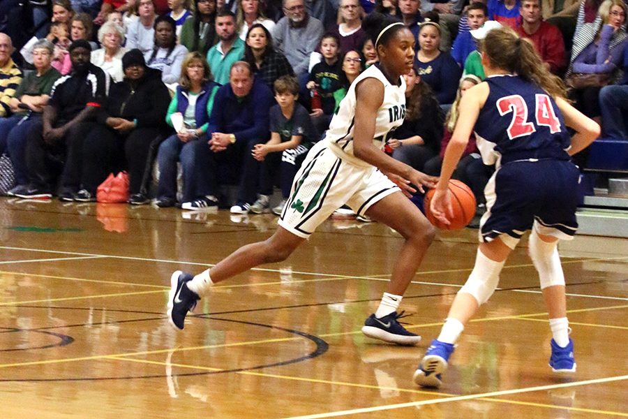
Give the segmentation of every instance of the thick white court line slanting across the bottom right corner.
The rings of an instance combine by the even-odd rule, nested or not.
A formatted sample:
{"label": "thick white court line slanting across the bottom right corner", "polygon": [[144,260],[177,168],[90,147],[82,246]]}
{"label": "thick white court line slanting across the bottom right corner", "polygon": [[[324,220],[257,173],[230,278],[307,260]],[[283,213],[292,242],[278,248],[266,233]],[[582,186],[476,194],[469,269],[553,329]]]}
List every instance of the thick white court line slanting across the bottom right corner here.
{"label": "thick white court line slanting across the bottom right corner", "polygon": [[[609,382],[613,382],[613,381],[623,381],[623,380],[626,380],[626,379],[628,379],[628,375],[607,377],[607,378],[595,378],[595,379],[592,379],[592,380],[574,381],[573,383],[539,385],[537,387],[516,388],[516,389],[513,389],[513,390],[500,390],[500,391],[486,392],[486,393],[481,393],[481,394],[476,394],[476,395],[444,397],[444,398],[441,398],[441,399],[421,400],[419,402],[385,404],[383,406],[373,406],[373,407],[366,407],[366,408],[361,408],[361,409],[349,409],[349,410],[345,410],[345,411],[318,413],[318,414],[314,414],[314,415],[292,416],[289,419],[333,418],[333,417],[336,417],[336,416],[349,416],[349,415],[358,415],[360,413],[373,413],[373,412],[376,412],[376,411],[389,411],[389,410],[394,410],[394,409],[404,409],[406,407],[426,406],[428,404],[461,402],[461,401],[473,400],[473,399],[486,399],[487,397],[501,397],[501,396],[507,396],[507,395],[516,395],[516,394],[521,394],[521,393],[525,393],[525,392],[553,390],[553,389],[556,389],[556,388],[568,388],[568,387],[577,387],[577,386],[581,386],[581,385],[590,385],[590,384],[598,384],[598,383],[609,383]],[[603,411],[600,411],[600,412],[603,412]]]}

